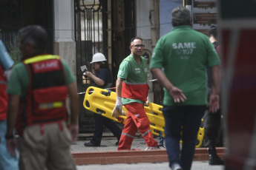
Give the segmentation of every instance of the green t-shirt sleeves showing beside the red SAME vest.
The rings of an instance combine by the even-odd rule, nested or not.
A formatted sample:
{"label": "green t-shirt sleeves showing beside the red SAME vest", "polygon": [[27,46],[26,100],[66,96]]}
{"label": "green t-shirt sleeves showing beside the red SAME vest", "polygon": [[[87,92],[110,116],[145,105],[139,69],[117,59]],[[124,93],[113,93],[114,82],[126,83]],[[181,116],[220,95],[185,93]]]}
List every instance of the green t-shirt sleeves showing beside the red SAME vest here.
{"label": "green t-shirt sleeves showing beside the red SAME vest", "polygon": [[[63,67],[65,69],[65,78],[67,86],[76,81],[75,76],[71,72],[68,64],[62,60]],[[23,63],[16,64],[12,69],[10,80],[8,81],[7,93],[10,95],[19,95],[22,98],[25,96],[25,92],[29,85],[29,75],[27,68]]]}

